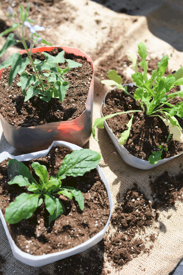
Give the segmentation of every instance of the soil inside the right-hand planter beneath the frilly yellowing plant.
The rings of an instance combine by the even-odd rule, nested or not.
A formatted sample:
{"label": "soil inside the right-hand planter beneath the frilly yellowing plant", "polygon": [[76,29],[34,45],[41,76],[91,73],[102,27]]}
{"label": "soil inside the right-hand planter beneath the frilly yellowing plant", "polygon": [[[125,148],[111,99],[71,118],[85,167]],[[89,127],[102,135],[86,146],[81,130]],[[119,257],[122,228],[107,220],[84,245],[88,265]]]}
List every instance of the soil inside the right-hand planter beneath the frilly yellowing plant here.
{"label": "soil inside the right-hand planter beneath the frilly yellowing plant", "polygon": [[[172,89],[172,92],[176,90],[180,90],[179,86]],[[134,91],[135,87],[128,87],[128,92],[131,95],[134,94]],[[137,106],[135,102],[133,97],[124,94],[122,90],[112,90],[106,96],[106,108],[102,106],[103,115],[106,116],[128,110],[141,110],[140,106]],[[180,97],[174,98],[171,104],[175,105],[177,102],[180,102]],[[165,146],[169,135],[168,127],[159,117],[148,117],[145,115],[145,112],[121,114],[106,120],[117,139],[120,138],[120,134],[128,129],[126,124],[131,119],[132,114],[134,114],[132,127],[124,147],[133,156],[148,160],[153,151],[160,150],[158,148],[159,145]],[[183,127],[183,120],[177,116],[176,118],[180,126]],[[180,154],[183,151],[183,144],[173,140],[171,135],[167,143],[167,149],[167,152],[163,150],[162,159]]]}

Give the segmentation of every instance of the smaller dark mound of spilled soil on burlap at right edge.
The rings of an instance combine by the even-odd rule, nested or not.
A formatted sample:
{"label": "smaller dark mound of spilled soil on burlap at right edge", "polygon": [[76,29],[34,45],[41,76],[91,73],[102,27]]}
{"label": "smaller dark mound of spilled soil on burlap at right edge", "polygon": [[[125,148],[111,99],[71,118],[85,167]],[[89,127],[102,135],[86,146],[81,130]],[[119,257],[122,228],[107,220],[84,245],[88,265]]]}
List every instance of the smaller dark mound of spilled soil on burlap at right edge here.
{"label": "smaller dark mound of spilled soil on burlap at right edge", "polygon": [[183,201],[183,174],[170,176],[167,171],[160,175],[154,182],[150,182],[154,207],[168,207],[176,201]]}

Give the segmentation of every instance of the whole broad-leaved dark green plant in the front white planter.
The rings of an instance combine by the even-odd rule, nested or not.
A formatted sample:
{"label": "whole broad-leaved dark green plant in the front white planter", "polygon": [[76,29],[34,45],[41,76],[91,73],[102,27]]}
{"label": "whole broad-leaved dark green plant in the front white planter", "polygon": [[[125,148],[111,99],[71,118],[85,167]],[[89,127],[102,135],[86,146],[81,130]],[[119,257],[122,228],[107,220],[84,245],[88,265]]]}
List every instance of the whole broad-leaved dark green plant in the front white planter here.
{"label": "whole broad-leaved dark green plant in the front white planter", "polygon": [[49,212],[49,224],[65,212],[64,205],[56,197],[58,194],[77,201],[81,210],[84,209],[84,198],[80,190],[74,187],[62,186],[62,180],[66,176],[83,176],[85,172],[97,167],[101,159],[99,153],[90,149],[72,151],[63,159],[63,163],[56,177],[48,178],[48,171],[44,165],[38,162],[32,163],[32,168],[39,177],[39,183],[33,178],[27,166],[11,159],[8,161],[8,175],[11,184],[28,186],[31,194],[22,193],[11,202],[5,210],[5,220],[9,224],[20,222],[30,218],[36,208],[45,201],[45,207]]}

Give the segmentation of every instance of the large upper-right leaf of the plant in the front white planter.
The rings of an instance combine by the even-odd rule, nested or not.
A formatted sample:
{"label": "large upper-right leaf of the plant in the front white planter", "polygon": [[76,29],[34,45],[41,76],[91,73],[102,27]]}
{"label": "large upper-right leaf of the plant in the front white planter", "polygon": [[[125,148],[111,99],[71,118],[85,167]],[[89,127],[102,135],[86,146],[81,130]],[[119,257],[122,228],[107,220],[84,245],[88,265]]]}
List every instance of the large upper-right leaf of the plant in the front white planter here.
{"label": "large upper-right leaf of the plant in the front white planter", "polygon": [[66,176],[83,176],[85,172],[96,168],[100,159],[100,154],[90,149],[72,151],[63,159],[57,177],[61,180]]}

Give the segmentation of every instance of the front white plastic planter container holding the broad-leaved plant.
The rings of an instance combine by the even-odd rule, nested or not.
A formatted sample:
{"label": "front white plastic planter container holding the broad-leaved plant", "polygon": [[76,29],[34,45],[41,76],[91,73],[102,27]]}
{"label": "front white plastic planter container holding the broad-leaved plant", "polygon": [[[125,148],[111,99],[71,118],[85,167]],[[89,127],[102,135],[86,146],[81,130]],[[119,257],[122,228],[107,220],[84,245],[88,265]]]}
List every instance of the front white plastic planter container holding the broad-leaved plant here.
{"label": "front white plastic planter container holding the broad-leaved plant", "polygon": [[[13,158],[16,159],[18,161],[24,161],[24,160],[33,160],[35,158],[39,158],[39,157],[44,157],[48,154],[48,152],[50,151],[50,149],[52,148],[52,146],[54,145],[61,145],[63,147],[72,149],[72,150],[81,150],[82,148],[71,144],[69,142],[64,142],[64,141],[53,141],[52,145],[49,147],[48,150],[44,150],[44,151],[39,151],[39,152],[35,152],[35,153],[30,153],[30,154],[26,154],[26,155],[20,155],[20,156],[12,156],[10,155],[8,152],[2,152],[0,154],[0,162],[2,162],[3,160],[7,159],[7,158]],[[74,254],[80,253],[88,248],[90,248],[91,246],[97,244],[100,240],[102,240],[102,238],[104,237],[104,234],[106,232],[106,229],[109,225],[109,221],[111,218],[111,213],[112,213],[112,207],[113,207],[113,201],[112,201],[112,196],[111,196],[111,192],[109,189],[109,184],[107,182],[107,179],[104,175],[104,173],[102,172],[101,168],[99,167],[99,165],[96,168],[99,171],[100,177],[102,179],[102,181],[104,182],[106,189],[107,189],[107,194],[108,194],[108,198],[109,198],[109,206],[110,206],[110,215],[109,218],[107,220],[107,223],[105,225],[105,227],[99,232],[97,233],[94,237],[92,237],[91,239],[85,241],[83,244],[77,245],[76,247],[70,248],[68,250],[64,250],[64,251],[59,251],[59,252],[55,252],[52,254],[47,254],[47,255],[40,255],[40,256],[35,256],[35,255],[30,255],[26,252],[23,252],[22,250],[20,250],[20,248],[18,248],[14,242],[14,240],[12,239],[10,233],[9,233],[9,229],[8,226],[6,224],[5,218],[2,215],[2,211],[0,209],[0,218],[2,220],[2,224],[4,226],[6,235],[8,237],[9,240],[9,244],[11,246],[11,249],[13,251],[13,255],[16,259],[18,259],[19,261],[30,265],[30,266],[44,266],[47,265],[49,263],[52,262],[56,262],[60,259],[72,256]]]}

